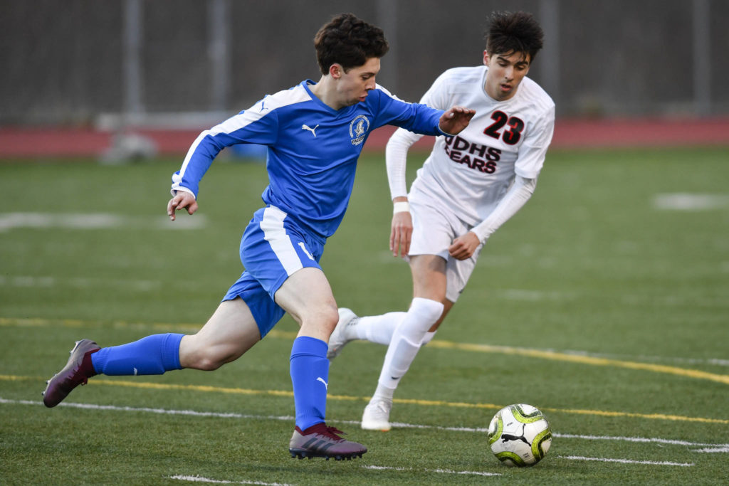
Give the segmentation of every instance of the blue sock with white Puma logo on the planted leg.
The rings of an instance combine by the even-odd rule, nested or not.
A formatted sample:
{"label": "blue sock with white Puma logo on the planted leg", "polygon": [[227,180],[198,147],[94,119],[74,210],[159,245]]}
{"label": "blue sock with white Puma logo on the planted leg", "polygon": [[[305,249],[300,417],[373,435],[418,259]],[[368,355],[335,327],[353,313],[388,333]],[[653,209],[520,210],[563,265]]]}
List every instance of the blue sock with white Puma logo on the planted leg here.
{"label": "blue sock with white Puma logo on the planted leg", "polygon": [[296,425],[302,431],[324,422],[327,413],[328,348],[326,342],[308,336],[297,337],[291,348]]}

